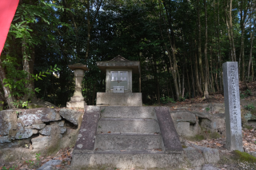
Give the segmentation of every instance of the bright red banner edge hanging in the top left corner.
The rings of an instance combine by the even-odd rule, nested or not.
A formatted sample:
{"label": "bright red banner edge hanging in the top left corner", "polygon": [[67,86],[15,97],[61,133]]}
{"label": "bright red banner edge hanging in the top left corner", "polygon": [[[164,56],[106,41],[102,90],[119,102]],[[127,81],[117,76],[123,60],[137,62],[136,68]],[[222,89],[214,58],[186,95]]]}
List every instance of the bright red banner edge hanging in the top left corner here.
{"label": "bright red banner edge hanging in the top left corner", "polygon": [[19,0],[0,0],[0,56]]}

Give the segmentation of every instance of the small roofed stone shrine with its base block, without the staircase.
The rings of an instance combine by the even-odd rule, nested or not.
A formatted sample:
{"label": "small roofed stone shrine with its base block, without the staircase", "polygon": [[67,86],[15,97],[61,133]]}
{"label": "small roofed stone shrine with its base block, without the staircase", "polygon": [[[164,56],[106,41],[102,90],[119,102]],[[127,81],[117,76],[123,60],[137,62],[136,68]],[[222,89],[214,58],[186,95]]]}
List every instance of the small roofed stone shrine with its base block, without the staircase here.
{"label": "small roofed stone shrine with its base block, without the staircase", "polygon": [[140,73],[139,61],[118,55],[110,61],[96,63],[106,72],[106,93],[97,93],[96,105],[142,106],[142,93],[132,93],[132,74]]}

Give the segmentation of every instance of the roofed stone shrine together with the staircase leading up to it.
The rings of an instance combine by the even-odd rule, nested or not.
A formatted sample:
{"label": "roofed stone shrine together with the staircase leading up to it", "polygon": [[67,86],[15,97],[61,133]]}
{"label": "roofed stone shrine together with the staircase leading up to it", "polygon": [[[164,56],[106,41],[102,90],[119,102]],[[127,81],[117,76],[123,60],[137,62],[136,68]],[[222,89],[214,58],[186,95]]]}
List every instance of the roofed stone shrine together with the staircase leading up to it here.
{"label": "roofed stone shrine together with the staircase leading up to it", "polygon": [[132,93],[139,62],[118,56],[97,65],[106,71],[106,93],[85,106],[72,169],[180,168],[183,149],[169,109],[142,106],[142,93]]}

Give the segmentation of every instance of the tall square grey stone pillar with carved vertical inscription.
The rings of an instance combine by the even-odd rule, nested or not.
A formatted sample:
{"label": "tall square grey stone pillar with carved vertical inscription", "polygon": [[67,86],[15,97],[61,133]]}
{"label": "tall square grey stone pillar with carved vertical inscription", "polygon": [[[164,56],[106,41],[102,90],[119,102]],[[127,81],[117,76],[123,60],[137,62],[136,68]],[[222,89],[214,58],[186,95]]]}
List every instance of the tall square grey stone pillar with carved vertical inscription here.
{"label": "tall square grey stone pillar with carved vertical inscription", "polygon": [[226,115],[226,148],[243,152],[238,62],[225,62],[223,85]]}

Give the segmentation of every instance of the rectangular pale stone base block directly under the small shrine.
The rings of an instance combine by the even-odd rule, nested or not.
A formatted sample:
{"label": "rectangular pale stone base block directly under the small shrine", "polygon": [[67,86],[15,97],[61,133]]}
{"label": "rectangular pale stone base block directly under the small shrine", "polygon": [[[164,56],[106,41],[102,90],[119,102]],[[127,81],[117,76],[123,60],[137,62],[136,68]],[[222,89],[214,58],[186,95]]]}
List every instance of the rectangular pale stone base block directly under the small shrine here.
{"label": "rectangular pale stone base block directly under the small shrine", "polygon": [[142,106],[142,93],[97,93],[96,105]]}

